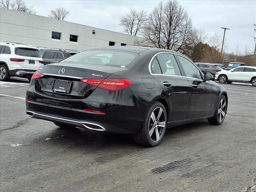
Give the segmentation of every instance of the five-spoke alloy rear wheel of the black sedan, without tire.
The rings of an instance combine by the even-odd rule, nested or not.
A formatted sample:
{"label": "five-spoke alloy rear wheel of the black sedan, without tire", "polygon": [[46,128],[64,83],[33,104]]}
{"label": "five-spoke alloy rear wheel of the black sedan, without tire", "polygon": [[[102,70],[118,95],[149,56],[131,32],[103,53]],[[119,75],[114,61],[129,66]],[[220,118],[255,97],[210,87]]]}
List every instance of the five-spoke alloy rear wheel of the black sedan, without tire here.
{"label": "five-spoke alloy rear wheel of the black sedan, without tire", "polygon": [[161,107],[155,108],[151,115],[148,124],[149,137],[153,142],[158,142],[164,133],[166,126],[166,116]]}

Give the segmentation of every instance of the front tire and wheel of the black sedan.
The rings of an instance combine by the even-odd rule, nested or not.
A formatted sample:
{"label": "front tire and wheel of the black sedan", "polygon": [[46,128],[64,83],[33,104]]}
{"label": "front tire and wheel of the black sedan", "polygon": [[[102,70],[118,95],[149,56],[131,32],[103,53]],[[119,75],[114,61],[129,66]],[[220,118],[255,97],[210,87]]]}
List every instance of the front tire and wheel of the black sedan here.
{"label": "front tire and wheel of the black sedan", "polygon": [[212,125],[220,125],[225,119],[227,111],[227,99],[224,95],[220,97],[220,101],[218,102],[218,106],[212,118],[208,119],[208,122]]}

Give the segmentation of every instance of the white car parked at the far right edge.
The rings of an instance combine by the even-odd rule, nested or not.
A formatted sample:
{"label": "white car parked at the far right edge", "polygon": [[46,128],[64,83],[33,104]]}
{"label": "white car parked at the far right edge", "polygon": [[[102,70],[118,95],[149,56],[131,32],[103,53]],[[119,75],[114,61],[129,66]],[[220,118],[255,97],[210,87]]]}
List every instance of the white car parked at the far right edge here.
{"label": "white car parked at the far right edge", "polygon": [[220,83],[244,82],[256,86],[256,67],[240,66],[231,70],[222,70],[216,73]]}

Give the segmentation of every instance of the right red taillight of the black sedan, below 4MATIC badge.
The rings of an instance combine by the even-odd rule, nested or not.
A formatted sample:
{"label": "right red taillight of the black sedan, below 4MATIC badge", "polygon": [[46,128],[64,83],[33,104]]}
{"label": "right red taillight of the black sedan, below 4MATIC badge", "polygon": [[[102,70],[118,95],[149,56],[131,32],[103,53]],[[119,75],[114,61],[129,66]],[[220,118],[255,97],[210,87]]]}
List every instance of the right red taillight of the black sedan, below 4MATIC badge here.
{"label": "right red taillight of the black sedan, below 4MATIC badge", "polygon": [[81,79],[81,81],[109,91],[119,91],[133,84],[129,79]]}

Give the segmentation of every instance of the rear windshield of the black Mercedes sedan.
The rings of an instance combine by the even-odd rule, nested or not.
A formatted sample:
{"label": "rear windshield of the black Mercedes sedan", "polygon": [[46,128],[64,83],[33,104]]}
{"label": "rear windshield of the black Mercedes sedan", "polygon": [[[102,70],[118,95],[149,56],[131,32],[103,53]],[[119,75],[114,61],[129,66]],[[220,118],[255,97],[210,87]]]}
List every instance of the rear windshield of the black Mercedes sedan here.
{"label": "rear windshield of the black Mercedes sedan", "polygon": [[64,62],[104,65],[129,68],[138,58],[138,54],[119,50],[87,50],[73,55]]}

